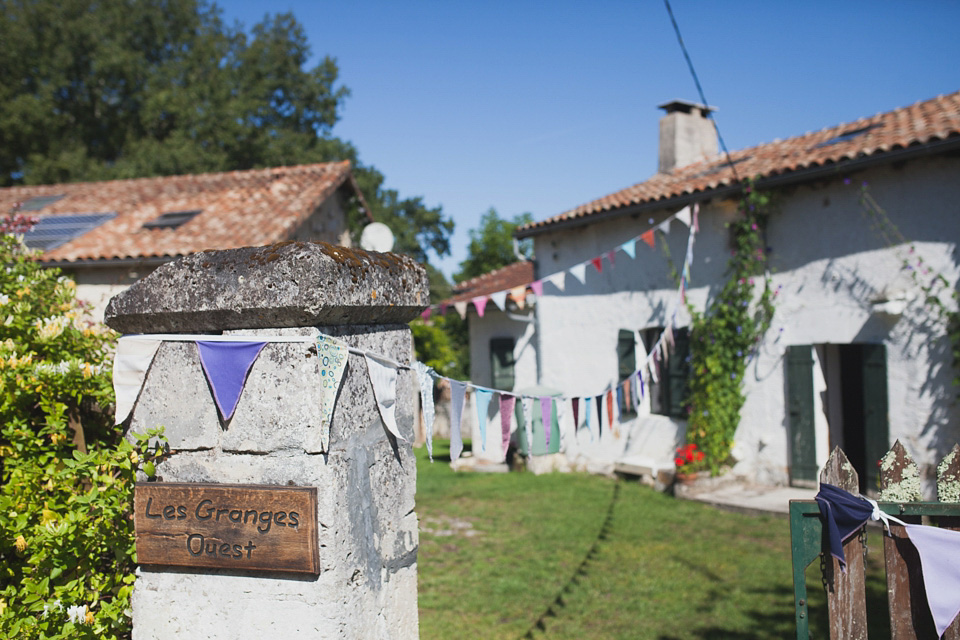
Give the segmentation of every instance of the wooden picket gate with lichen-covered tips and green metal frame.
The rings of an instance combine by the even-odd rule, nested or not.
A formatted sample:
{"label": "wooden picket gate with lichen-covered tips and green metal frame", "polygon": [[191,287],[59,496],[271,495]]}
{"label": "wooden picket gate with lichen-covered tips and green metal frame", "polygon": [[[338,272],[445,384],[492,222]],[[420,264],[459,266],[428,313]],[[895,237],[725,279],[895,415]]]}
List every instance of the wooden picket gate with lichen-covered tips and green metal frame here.
{"label": "wooden picket gate with lichen-covered tips and green metal frame", "polygon": [[[944,458],[937,468],[938,502],[923,502],[920,475],[916,463],[897,441],[880,460],[881,510],[907,523],[919,523],[923,516],[937,526],[960,530],[960,447]],[[859,478],[846,455],[834,449],[820,472],[820,482],[836,485],[857,494]],[[902,526],[891,525],[883,534],[883,552],[887,575],[890,612],[890,637],[936,638],[933,619],[927,607],[920,559]],[[813,500],[790,501],[790,538],[793,555],[793,593],[797,639],[810,638],[806,568],[821,558],[823,528],[820,510]],[[843,545],[846,573],[832,556],[821,561],[827,590],[830,638],[859,640],[867,637],[864,536],[853,536]],[[957,559],[951,559],[957,561]],[[944,640],[960,640],[960,619],[943,634]]]}

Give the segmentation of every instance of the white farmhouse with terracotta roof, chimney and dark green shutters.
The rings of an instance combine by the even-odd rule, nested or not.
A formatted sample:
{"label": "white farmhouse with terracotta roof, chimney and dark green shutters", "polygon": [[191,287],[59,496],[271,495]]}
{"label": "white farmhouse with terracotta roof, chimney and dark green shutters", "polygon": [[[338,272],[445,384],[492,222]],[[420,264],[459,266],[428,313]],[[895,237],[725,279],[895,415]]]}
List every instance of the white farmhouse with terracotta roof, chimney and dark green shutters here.
{"label": "white farmhouse with terracotta roof, chimney and dark green shutters", "polygon": [[[532,277],[566,273],[565,286],[544,282],[530,296],[532,310],[489,304],[479,318],[471,309],[473,381],[496,386],[499,376],[513,389],[540,385],[564,398],[617,388],[671,324],[677,281],[662,245],[679,266],[688,229],[674,220],[668,233],[656,231],[656,249],[638,245],[635,258],[618,251],[613,265],[603,259],[602,271],[588,266],[583,282],[569,270],[697,205],[687,299],[703,309],[726,278],[736,177],[756,178],[777,201],[766,244],[778,295],[773,326],[749,364],[732,473],[810,484],[840,446],[872,490],[877,460],[899,439],[933,477],[932,465],[960,440],[960,387],[951,383],[951,344],[924,304],[922,285],[942,276],[943,302],[956,307],[960,92],[736,151],[729,160],[717,152],[711,107],[678,101],[662,108],[656,175],[517,231],[534,242]],[[864,188],[879,217],[861,201]],[[878,228],[882,218],[892,224]],[[612,429],[606,418],[599,435],[584,429],[583,408],[575,429],[566,402],[560,432],[569,464],[672,468],[686,428],[688,322],[681,305],[676,350],[659,384],[645,389],[639,406],[621,407]],[[504,350],[509,357],[498,355]],[[491,424],[499,418],[491,415]],[[488,430],[491,458],[497,432]]]}

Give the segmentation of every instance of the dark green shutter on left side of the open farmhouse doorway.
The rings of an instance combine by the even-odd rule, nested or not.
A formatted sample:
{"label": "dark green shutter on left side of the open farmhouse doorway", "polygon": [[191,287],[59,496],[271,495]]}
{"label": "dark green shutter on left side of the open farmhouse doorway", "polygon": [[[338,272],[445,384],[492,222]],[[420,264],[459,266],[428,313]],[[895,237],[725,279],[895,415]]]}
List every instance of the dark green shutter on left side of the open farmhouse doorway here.
{"label": "dark green shutter on left side of the open farmhouse doorway", "polygon": [[787,411],[790,419],[790,481],[817,481],[813,416],[813,347],[787,347]]}

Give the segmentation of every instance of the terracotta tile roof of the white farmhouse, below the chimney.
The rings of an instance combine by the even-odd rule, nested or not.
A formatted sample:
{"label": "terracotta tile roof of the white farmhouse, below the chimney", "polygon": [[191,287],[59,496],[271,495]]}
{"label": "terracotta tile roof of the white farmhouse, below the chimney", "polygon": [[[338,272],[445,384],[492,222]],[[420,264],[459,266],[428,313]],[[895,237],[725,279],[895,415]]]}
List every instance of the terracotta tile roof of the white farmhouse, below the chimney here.
{"label": "terracotta tile roof of the white farmhouse, below the chimney", "polygon": [[[760,176],[772,179],[815,168],[833,167],[842,171],[851,161],[881,159],[894,151],[947,140],[960,143],[960,91],[847,124],[735,151],[730,157],[741,178]],[[679,167],[670,173],[658,173],[646,182],[525,225],[517,229],[517,235],[535,235],[560,223],[569,224],[624,207],[706,194],[734,184],[727,160],[720,156]]]}

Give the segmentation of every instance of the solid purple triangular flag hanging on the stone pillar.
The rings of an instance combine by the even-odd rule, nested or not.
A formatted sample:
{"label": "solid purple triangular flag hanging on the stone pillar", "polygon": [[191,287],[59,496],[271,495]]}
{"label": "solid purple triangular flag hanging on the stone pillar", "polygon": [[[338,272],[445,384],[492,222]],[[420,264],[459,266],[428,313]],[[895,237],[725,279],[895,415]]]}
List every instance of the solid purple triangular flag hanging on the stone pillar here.
{"label": "solid purple triangular flag hanging on the stone pillar", "polygon": [[266,342],[213,342],[197,340],[200,366],[213,390],[224,422],[233,417],[240,401],[240,394],[247,381],[247,374],[266,346]]}

